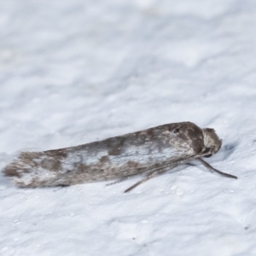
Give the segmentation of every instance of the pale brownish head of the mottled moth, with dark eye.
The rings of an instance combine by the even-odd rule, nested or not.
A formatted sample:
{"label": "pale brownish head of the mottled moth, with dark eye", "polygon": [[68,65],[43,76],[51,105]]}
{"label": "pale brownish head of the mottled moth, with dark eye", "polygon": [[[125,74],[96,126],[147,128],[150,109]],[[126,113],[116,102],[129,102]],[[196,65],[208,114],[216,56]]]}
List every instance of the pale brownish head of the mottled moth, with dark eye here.
{"label": "pale brownish head of the mottled moth, with dark eye", "polygon": [[211,157],[212,154],[216,154],[221,147],[222,140],[218,138],[218,135],[211,128],[202,129],[203,137],[204,137],[204,146],[206,148],[205,157]]}

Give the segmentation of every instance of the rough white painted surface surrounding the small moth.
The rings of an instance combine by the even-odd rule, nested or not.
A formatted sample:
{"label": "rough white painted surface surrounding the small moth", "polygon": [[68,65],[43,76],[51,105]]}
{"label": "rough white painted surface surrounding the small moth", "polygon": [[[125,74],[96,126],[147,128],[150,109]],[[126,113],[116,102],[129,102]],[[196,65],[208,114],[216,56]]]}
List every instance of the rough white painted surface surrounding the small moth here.
{"label": "rough white painted surface surrounding the small moth", "polygon": [[256,255],[254,0],[1,0],[0,167],[20,150],[178,121],[214,128],[208,161],[106,187],[0,177],[0,255]]}

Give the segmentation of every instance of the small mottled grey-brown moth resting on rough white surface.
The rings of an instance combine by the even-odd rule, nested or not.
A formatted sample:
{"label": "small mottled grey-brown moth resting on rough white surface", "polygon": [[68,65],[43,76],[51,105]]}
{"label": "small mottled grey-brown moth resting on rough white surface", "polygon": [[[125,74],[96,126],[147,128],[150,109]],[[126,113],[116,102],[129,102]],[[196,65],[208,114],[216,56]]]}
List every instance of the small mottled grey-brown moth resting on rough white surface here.
{"label": "small mottled grey-brown moth resting on rough white surface", "polygon": [[[21,152],[3,169],[5,176],[22,188],[73,185],[142,175],[143,179],[125,192],[176,166],[198,160],[210,172],[220,172],[201,157],[211,157],[222,141],[211,128],[190,122],[160,125],[143,131],[43,152]],[[111,184],[113,184],[111,183]]]}

